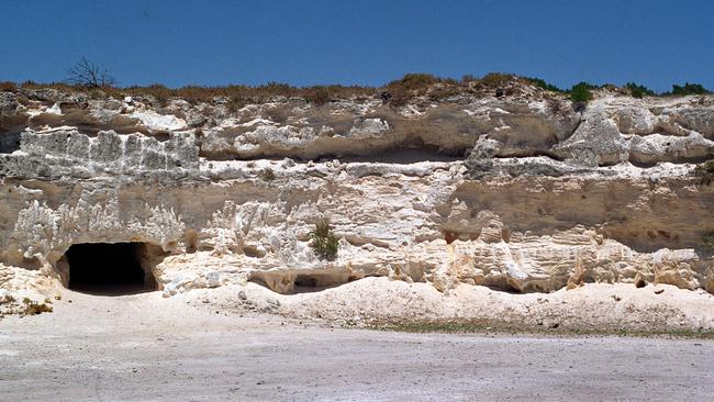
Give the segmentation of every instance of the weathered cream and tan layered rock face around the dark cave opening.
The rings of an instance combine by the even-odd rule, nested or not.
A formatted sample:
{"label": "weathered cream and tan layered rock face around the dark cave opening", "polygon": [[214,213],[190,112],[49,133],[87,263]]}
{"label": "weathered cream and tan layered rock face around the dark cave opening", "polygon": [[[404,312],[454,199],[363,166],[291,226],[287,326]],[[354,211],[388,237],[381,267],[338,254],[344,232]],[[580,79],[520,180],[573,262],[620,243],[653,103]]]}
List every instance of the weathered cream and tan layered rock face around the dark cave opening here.
{"label": "weathered cream and tan layered rock face around the dark cave opening", "polygon": [[[383,276],[550,292],[583,282],[714,292],[714,98],[527,87],[392,108],[0,93],[0,288],[67,284],[74,244],[144,243],[166,295]],[[328,217],[335,260],[310,247]],[[101,269],[101,264],[98,268]]]}

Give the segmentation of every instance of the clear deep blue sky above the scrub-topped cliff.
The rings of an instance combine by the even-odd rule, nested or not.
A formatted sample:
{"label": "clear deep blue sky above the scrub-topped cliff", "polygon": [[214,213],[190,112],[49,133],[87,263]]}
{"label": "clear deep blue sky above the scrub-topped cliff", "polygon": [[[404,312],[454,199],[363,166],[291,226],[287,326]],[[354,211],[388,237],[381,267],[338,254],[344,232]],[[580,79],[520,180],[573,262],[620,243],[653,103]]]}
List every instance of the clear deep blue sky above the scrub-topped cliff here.
{"label": "clear deep blue sky above the scrub-topped cliff", "polygon": [[0,80],[377,86],[489,71],[714,89],[712,0],[0,0]]}

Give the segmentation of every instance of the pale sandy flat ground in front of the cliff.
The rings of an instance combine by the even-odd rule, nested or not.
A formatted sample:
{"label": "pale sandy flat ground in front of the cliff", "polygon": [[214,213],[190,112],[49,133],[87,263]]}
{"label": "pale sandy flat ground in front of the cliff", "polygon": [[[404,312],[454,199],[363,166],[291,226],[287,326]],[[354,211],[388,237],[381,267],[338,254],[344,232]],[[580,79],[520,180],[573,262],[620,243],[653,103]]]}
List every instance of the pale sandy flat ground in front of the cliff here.
{"label": "pale sandy flat ground in front of the cliff", "polygon": [[[263,294],[259,287],[243,289],[243,299]],[[0,400],[709,401],[714,394],[714,340],[333,328],[257,312],[324,302],[330,291],[272,293],[267,304],[243,300],[252,309],[217,303],[227,305],[236,291],[164,299],[65,290],[54,313],[0,321]]]}

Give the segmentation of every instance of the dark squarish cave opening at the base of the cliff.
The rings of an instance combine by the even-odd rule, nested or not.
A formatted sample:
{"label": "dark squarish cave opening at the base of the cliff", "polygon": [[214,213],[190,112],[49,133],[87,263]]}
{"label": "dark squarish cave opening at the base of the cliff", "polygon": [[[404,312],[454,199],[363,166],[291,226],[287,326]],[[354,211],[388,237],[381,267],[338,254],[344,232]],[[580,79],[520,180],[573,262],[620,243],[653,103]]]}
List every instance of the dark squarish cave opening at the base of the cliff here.
{"label": "dark squarish cave opening at the base of the cliff", "polygon": [[146,243],[74,244],[65,253],[66,284],[93,294],[157,290]]}

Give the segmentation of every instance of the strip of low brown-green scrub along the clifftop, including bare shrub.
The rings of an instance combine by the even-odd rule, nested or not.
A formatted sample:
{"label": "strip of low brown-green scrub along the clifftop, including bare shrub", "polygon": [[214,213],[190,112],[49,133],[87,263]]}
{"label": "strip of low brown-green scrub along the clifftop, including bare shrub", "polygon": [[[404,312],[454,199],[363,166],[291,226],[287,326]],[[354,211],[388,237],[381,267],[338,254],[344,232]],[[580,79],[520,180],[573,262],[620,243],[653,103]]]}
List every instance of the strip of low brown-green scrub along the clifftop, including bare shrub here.
{"label": "strip of low brown-green scrub along the clifftop, including bare shrub", "polygon": [[380,97],[384,104],[402,107],[419,97],[425,97],[431,101],[440,101],[465,93],[509,97],[518,92],[518,85],[536,87],[548,92],[565,93],[576,103],[576,108],[583,108],[587,102],[592,100],[592,90],[595,89],[617,90],[620,93],[631,94],[634,98],[712,93],[702,85],[690,82],[683,86],[674,85],[671,92],[660,94],[644,85],[635,82],[627,82],[622,88],[614,85],[599,87],[588,82],[579,82],[572,86],[570,90],[564,90],[542,78],[518,77],[504,72],[490,72],[480,78],[465,75],[461,80],[442,78],[425,72],[410,72],[379,88],[342,85],[294,87],[282,82],[268,82],[260,86],[228,85],[223,87],[190,85],[176,89],[167,88],[160,83],[124,88],[115,85],[116,81],[108,69],[82,58],[69,70],[66,82],[45,85],[33,81],[23,83],[5,81],[0,82],[0,91],[18,92],[26,89],[54,88],[67,92],[88,91],[90,97],[93,98],[153,97],[161,105],[166,104],[171,98],[179,98],[193,104],[202,102],[224,103],[230,111],[236,111],[248,103],[267,102],[276,97],[302,98],[316,107],[336,99]]}

